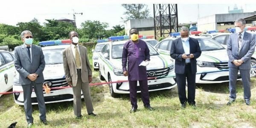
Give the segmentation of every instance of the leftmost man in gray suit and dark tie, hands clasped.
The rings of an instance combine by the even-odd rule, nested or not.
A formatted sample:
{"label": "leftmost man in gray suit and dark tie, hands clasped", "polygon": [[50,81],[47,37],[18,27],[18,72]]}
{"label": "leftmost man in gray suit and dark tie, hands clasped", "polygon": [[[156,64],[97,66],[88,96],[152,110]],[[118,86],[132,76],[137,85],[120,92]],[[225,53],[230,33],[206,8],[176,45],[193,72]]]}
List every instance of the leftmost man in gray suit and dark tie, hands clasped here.
{"label": "leftmost man in gray suit and dark tie, hands clasped", "polygon": [[45,125],[46,108],[44,103],[43,82],[44,82],[44,54],[40,46],[32,45],[32,33],[28,30],[20,34],[21,40],[24,43],[21,46],[15,47],[15,68],[20,74],[19,83],[23,88],[24,108],[28,127],[33,124],[32,117],[32,102],[31,93],[34,88],[40,111],[40,119]]}

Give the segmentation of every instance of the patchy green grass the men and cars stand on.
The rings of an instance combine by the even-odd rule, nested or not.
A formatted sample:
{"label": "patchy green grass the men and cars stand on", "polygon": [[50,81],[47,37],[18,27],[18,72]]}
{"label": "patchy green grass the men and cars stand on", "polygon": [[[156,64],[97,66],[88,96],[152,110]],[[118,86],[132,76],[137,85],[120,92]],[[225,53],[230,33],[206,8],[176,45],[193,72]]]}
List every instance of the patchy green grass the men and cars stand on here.
{"label": "patchy green grass the men and cars stand on", "polygon": [[[91,61],[91,54],[90,62]],[[100,82],[98,72],[93,71],[93,82]],[[107,85],[91,86],[94,113],[87,115],[85,104],[82,105],[82,119],[75,119],[73,102],[47,104],[45,126],[39,121],[38,106],[33,105],[34,128],[240,128],[256,127],[256,78],[251,80],[250,106],[243,101],[241,82],[237,83],[237,100],[227,106],[228,83],[197,84],[197,108],[180,108],[177,87],[172,90],[150,92],[151,106],[155,111],[143,107],[138,94],[139,111],[130,114],[131,104],[128,94],[112,98]],[[26,127],[23,106],[16,105],[12,95],[0,97],[0,128],[7,128],[12,122],[18,122],[17,128]]]}

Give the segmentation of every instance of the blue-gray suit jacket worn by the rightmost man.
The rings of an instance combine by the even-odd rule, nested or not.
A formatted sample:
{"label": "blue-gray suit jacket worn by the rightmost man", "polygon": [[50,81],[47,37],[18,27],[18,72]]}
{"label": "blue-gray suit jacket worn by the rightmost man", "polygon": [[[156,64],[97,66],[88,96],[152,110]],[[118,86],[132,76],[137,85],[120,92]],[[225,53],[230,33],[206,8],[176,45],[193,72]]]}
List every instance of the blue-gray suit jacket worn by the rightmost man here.
{"label": "blue-gray suit jacket worn by the rightmost man", "polygon": [[228,60],[228,67],[230,68],[237,68],[234,63],[232,63],[233,60],[242,60],[244,63],[242,63],[239,68],[241,69],[250,69],[250,58],[254,53],[255,49],[255,37],[244,32],[244,37],[242,39],[242,45],[241,49],[238,55],[238,34],[234,33],[231,34],[228,41],[227,41],[227,55],[229,57]]}

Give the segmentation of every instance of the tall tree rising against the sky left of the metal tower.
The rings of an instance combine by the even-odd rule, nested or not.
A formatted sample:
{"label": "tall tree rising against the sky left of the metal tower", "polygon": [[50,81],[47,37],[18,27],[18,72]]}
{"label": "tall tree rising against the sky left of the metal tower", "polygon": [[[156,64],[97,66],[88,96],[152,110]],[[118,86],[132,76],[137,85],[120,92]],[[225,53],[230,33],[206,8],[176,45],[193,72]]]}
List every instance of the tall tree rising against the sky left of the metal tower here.
{"label": "tall tree rising against the sky left of the metal tower", "polygon": [[124,12],[125,18],[121,17],[124,23],[130,19],[149,18],[149,9],[145,4],[122,4],[122,6],[126,9]]}

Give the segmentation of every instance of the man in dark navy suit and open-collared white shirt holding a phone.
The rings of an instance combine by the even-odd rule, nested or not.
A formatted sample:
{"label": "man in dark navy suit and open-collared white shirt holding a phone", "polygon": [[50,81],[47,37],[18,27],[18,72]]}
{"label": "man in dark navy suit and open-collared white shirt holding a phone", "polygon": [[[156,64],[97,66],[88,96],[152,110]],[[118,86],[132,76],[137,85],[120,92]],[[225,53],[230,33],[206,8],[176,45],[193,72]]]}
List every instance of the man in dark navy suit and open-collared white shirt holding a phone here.
{"label": "man in dark navy suit and open-collared white shirt holding a phone", "polygon": [[[178,94],[182,108],[186,102],[195,107],[195,73],[196,59],[201,55],[198,40],[189,37],[189,28],[182,27],[180,38],[172,42],[170,55],[175,59],[175,73]],[[186,80],[188,85],[188,98],[186,97]]]}

